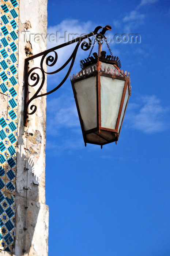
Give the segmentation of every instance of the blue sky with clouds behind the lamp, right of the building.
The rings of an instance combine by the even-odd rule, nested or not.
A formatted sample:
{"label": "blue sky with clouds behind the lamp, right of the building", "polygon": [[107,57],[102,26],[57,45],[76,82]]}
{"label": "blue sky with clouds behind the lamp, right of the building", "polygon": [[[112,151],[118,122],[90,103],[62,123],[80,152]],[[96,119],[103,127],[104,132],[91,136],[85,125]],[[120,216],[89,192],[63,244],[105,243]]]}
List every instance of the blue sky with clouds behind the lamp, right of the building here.
{"label": "blue sky with clouds behind the lamp, right of the building", "polygon": [[[110,39],[141,37],[109,44],[131,73],[132,95],[117,145],[102,150],[84,147],[69,78],[47,97],[49,256],[169,256],[170,1],[48,0],[49,34],[86,34],[107,24]],[[48,47],[63,42],[48,40]],[[59,66],[69,51],[58,52]],[[71,74],[88,54],[79,49]],[[50,75],[48,90],[63,76]]]}

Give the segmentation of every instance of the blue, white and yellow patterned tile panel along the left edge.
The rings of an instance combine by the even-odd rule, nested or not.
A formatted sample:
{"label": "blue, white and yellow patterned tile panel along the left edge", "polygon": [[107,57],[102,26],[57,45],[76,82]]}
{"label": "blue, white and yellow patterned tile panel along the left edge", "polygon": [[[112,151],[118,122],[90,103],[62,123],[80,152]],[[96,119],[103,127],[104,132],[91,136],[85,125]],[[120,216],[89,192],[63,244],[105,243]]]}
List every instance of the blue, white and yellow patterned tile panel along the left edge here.
{"label": "blue, white and yellow patterned tile panel along the left edge", "polygon": [[18,106],[18,0],[1,0],[0,17],[0,251],[12,251]]}

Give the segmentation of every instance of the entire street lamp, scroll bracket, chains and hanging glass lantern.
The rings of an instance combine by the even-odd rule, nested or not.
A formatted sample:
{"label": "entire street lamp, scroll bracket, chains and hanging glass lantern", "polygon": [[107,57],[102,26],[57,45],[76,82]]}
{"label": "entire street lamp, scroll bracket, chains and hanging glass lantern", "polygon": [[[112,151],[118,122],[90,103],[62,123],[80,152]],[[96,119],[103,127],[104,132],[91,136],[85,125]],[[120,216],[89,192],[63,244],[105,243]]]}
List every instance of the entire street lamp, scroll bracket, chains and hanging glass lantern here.
{"label": "entire street lamp, scroll bracket, chains and hanging glass lantern", "polygon": [[[98,32],[99,29],[102,29],[102,31]],[[80,61],[82,70],[71,77],[72,89],[78,109],[85,146],[86,143],[98,144],[101,147],[107,143],[117,143],[129,96],[131,95],[131,86],[129,73],[127,74],[126,71],[124,72],[123,70],[120,70],[120,60],[118,57],[116,58],[113,56],[109,48],[104,35],[106,30],[111,30],[111,27],[109,25],[104,28],[99,26],[87,35],[26,59],[25,126],[27,126],[28,114],[34,114],[37,109],[37,106],[31,105],[30,109],[32,111],[29,113],[28,108],[31,101],[35,98],[53,93],[61,87],[71,72],[79,45],[81,44],[83,50],[90,49],[92,45],[90,37],[94,36],[94,44],[96,41],[98,42],[98,53],[93,53],[93,57],[90,56],[94,47],[93,44],[88,58]],[[84,41],[86,38],[88,39],[88,43]],[[106,41],[111,55],[106,56],[106,52],[101,50],[103,40]],[[57,62],[57,49],[75,42],[77,42],[77,44],[73,53],[61,68],[58,68],[53,72],[46,72],[44,70],[44,61],[46,65],[50,67]],[[52,55],[47,56],[52,52],[54,53],[54,57]],[[40,67],[31,68],[29,70],[29,61],[40,56],[42,56]],[[66,67],[69,62],[71,62],[71,64],[62,82],[53,90],[44,94],[39,94],[45,81],[45,74],[56,74]],[[36,70],[41,72],[41,79]],[[31,84],[30,81],[32,81],[33,84]],[[33,97],[29,99],[29,86],[33,87],[38,83],[40,83],[38,90]]]}

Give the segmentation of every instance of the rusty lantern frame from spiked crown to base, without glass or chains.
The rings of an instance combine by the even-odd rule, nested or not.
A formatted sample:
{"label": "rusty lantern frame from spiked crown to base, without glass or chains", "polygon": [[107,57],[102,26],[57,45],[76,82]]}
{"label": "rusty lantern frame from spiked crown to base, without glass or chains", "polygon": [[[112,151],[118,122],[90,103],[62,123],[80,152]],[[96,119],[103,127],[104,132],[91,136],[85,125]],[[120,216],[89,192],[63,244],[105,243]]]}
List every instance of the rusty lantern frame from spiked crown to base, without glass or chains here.
{"label": "rusty lantern frame from spiked crown to base, without glass or chains", "polygon": [[[71,78],[71,84],[72,84],[72,89],[73,89],[73,93],[74,93],[74,97],[75,97],[75,102],[76,102],[76,107],[78,110],[78,115],[79,115],[79,120],[80,120],[80,125],[82,128],[82,133],[83,133],[83,139],[84,139],[84,143],[86,146],[86,143],[91,143],[91,144],[98,144],[101,146],[111,143],[111,142],[116,142],[118,141],[119,135],[120,135],[120,130],[121,130],[121,126],[122,126],[122,122],[124,119],[124,115],[125,115],[125,111],[124,111],[124,115],[122,117],[121,120],[121,114],[122,114],[122,109],[123,109],[123,105],[124,105],[124,101],[125,101],[125,94],[126,94],[126,90],[128,90],[128,100],[126,102],[125,105],[125,110],[129,101],[129,96],[131,95],[131,86],[130,86],[130,74],[127,74],[127,72],[120,70],[120,68],[118,68],[118,66],[121,66],[120,62],[119,64],[114,64],[114,66],[117,67],[115,69],[111,69],[102,67],[102,64],[112,64],[117,62],[115,60],[110,60],[110,56],[107,55],[107,57],[105,56],[106,52],[102,51],[101,52],[101,56],[97,59],[97,53],[94,53],[95,58],[93,58],[92,61],[87,61],[86,63],[80,61],[80,63],[82,63],[82,65],[84,66],[84,68],[82,69],[82,71],[80,71],[78,74],[72,76]],[[117,59],[118,60],[118,59]],[[88,66],[92,63],[92,65],[90,66],[90,68],[88,68]],[[95,63],[97,65],[95,65]],[[94,65],[93,65],[94,64]],[[87,67],[88,69],[85,69],[85,67]],[[121,97],[121,103],[120,103],[120,108],[118,111],[118,117],[117,117],[117,121],[116,121],[116,127],[115,129],[110,129],[110,128],[106,128],[106,127],[102,127],[101,124],[101,76],[103,77],[109,77],[114,79],[119,79],[119,80],[124,80],[125,84],[124,84],[124,88],[123,88],[123,93],[122,93],[122,97]],[[93,129],[84,129],[84,122],[83,122],[83,118],[81,115],[81,111],[79,108],[79,103],[78,103],[78,98],[76,95],[76,90],[75,90],[75,86],[74,83],[90,78],[90,77],[95,77],[96,78],[96,86],[97,86],[97,125],[95,128]],[[120,124],[121,122],[121,124]],[[112,139],[107,139],[107,136],[103,136],[102,133],[104,134],[105,132],[107,132],[108,134],[110,133],[110,135],[112,134]],[[92,140],[88,140],[87,135],[91,135],[94,134],[95,136],[98,136],[98,138],[102,138],[103,140],[105,140],[105,142],[92,142]]]}

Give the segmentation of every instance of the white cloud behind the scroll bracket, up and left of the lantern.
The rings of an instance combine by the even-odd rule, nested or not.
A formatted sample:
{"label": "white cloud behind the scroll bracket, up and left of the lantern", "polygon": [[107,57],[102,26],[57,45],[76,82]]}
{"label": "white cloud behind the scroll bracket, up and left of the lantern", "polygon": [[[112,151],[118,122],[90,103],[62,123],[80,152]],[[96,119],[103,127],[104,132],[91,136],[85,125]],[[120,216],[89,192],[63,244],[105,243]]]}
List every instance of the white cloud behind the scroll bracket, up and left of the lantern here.
{"label": "white cloud behind the scroll bracket, up and left of the lantern", "polygon": [[[79,20],[75,20],[75,19],[63,20],[58,25],[48,27],[48,36],[47,36],[48,49],[53,48],[60,44],[64,44],[65,42],[68,42],[69,40],[73,39],[73,37],[75,38],[75,37],[82,36],[84,34],[88,34],[91,31],[93,31],[94,29],[95,29],[95,24],[92,23],[91,21],[80,22]],[[93,40],[94,40],[94,38],[93,38]],[[88,42],[88,39],[86,39],[86,41]],[[58,54],[57,63],[52,67],[48,67],[48,71],[53,72],[53,71],[57,70],[58,68],[60,68],[65,63],[65,61],[67,61],[68,58],[71,56],[73,50],[75,49],[76,44],[77,43],[70,44],[70,45],[67,45],[63,48],[56,50],[56,52]],[[96,48],[94,51],[96,51]],[[87,58],[89,52],[90,52],[90,49],[88,51],[84,51],[79,46],[78,52],[76,54],[74,69],[73,69],[73,71],[71,71],[71,75],[73,73],[76,74],[76,72],[80,71],[79,61],[81,59]],[[48,54],[48,56],[49,56],[49,54]],[[54,56],[54,53],[52,54],[52,56]],[[71,61],[67,65],[65,70],[57,73],[57,76],[50,75],[50,76],[53,76],[53,78],[50,77],[50,80],[56,79],[57,81],[61,82],[61,80],[64,78],[65,74],[67,74],[70,64],[71,64]]]}

